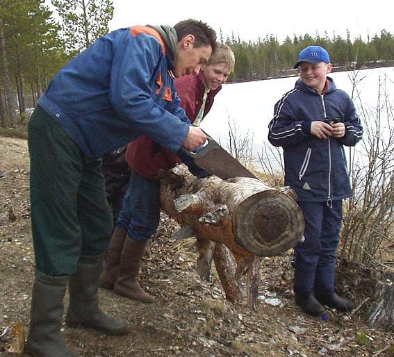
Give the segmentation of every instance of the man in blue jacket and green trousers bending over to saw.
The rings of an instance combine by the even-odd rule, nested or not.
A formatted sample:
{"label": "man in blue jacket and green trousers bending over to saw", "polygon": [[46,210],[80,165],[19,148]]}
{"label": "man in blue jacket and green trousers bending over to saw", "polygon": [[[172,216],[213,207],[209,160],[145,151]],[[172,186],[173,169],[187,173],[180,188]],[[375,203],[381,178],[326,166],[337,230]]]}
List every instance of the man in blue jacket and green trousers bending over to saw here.
{"label": "man in blue jacket and green trousers bending over to saw", "polygon": [[192,19],[122,28],[76,56],[40,97],[28,125],[31,356],[76,356],[60,332],[67,283],[67,325],[126,333],[126,322],[99,309],[97,295],[113,226],[101,157],[140,135],[174,152],[204,144],[179,105],[174,78],[197,75],[215,43],[215,31]]}

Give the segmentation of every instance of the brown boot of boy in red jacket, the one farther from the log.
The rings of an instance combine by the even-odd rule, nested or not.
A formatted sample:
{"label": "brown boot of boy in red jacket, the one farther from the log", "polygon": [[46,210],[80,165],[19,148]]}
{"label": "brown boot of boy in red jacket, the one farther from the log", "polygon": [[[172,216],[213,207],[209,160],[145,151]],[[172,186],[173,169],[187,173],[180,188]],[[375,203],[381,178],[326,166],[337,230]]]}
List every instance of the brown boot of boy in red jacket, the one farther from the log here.
{"label": "brown boot of boy in red jacket, the one farther from the log", "polygon": [[126,232],[122,229],[115,228],[113,231],[108,253],[106,256],[106,265],[100,276],[100,285],[104,289],[113,290],[117,276],[119,275],[120,256],[122,254]]}

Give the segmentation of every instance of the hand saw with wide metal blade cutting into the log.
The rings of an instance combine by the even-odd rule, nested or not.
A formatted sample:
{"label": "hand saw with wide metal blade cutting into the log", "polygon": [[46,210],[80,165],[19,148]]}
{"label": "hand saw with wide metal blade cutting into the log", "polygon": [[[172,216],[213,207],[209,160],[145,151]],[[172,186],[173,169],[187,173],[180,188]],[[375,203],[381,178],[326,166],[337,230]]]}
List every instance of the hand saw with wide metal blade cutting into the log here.
{"label": "hand saw with wide metal blade cutting into the log", "polygon": [[220,144],[215,142],[211,136],[206,135],[207,144],[197,151],[183,151],[195,160],[195,164],[210,174],[214,174],[222,180],[233,177],[251,177],[257,178],[245,166],[239,163],[233,156],[224,150]]}

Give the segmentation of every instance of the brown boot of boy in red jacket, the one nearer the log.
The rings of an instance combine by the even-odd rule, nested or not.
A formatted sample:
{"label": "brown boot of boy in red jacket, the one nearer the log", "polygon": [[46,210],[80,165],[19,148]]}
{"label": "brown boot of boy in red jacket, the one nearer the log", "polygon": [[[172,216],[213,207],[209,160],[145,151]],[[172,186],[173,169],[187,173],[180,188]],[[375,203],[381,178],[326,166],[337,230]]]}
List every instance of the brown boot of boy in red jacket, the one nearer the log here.
{"label": "brown boot of boy in red jacket, the one nearer the log", "polygon": [[138,283],[140,264],[146,245],[146,242],[137,242],[129,236],[126,237],[120,258],[120,272],[113,291],[129,299],[154,303],[156,299],[142,290]]}

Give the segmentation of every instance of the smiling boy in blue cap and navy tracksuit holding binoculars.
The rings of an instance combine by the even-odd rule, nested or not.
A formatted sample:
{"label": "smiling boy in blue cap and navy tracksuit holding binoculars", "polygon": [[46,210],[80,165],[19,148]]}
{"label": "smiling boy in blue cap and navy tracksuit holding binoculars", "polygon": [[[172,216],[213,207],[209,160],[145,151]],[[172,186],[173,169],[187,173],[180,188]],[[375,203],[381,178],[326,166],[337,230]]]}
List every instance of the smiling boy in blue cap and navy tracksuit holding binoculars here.
{"label": "smiling boy in blue cap and navy tracksuit holding binoculars", "polygon": [[275,104],[268,140],[283,147],[285,184],[297,193],[305,219],[304,242],[293,257],[295,302],[309,315],[324,306],[347,312],[354,304],[334,288],[336,250],[343,219],[343,199],[352,196],[343,146],[363,135],[350,97],[327,77],[329,53],[309,46],[294,68],[300,78]]}

